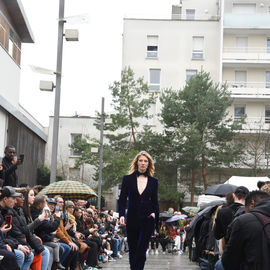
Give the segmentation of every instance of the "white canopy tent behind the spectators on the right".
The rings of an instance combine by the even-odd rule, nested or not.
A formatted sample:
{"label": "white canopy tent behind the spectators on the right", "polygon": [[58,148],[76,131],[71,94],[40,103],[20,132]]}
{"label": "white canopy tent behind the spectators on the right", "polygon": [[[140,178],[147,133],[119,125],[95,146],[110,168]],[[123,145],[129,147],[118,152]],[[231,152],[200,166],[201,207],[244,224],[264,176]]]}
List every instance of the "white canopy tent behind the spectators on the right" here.
{"label": "white canopy tent behind the spectators on the right", "polygon": [[249,177],[249,176],[232,176],[224,184],[232,184],[236,186],[244,186],[248,188],[249,191],[257,190],[258,181],[270,181],[270,179],[265,177]]}

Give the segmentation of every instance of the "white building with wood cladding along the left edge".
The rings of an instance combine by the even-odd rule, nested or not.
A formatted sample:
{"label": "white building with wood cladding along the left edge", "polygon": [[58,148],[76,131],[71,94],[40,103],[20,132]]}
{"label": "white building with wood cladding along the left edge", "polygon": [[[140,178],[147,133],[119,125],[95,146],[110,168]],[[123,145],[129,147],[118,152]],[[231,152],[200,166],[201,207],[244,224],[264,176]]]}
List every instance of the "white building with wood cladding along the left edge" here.
{"label": "white building with wood cladding along the left edge", "polygon": [[20,0],[0,0],[0,156],[6,145],[24,154],[19,184],[36,184],[37,166],[44,162],[47,135],[40,123],[19,103],[22,43],[33,33]]}

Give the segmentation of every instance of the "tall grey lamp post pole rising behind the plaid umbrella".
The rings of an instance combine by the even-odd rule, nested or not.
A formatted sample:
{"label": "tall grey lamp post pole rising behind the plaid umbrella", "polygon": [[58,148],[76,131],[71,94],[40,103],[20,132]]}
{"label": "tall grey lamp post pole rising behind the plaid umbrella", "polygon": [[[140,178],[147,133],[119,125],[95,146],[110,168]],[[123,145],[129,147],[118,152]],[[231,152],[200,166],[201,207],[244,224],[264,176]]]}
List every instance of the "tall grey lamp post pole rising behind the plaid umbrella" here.
{"label": "tall grey lamp post pole rising behind the plaid umbrella", "polygon": [[61,78],[62,78],[62,55],[63,55],[63,36],[64,36],[64,10],[65,0],[59,0],[59,19],[58,19],[58,44],[57,44],[57,64],[56,64],[56,83],[55,83],[55,102],[54,102],[54,120],[53,120],[53,141],[51,158],[51,176],[50,183],[56,180],[57,170],[57,148],[59,131],[59,112],[61,96]]}

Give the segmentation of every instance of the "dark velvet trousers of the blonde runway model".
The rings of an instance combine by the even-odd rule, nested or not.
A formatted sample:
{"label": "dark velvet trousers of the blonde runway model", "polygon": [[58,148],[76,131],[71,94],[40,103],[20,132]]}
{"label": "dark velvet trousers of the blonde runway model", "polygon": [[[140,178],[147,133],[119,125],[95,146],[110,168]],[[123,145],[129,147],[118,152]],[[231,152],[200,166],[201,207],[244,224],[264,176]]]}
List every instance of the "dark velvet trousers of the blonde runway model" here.
{"label": "dark velvet trousers of the blonde runway model", "polygon": [[155,220],[148,217],[127,225],[127,240],[129,246],[129,263],[131,270],[143,270],[146,261],[146,250],[154,231]]}

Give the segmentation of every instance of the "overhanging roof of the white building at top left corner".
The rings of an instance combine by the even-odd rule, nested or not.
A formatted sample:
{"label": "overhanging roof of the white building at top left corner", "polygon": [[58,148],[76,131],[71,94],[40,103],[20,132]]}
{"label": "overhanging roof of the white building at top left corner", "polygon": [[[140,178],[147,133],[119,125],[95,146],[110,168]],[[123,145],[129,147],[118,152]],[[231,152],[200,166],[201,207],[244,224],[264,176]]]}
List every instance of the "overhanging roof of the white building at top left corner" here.
{"label": "overhanging roof of the white building at top left corner", "polygon": [[21,0],[3,0],[21,42],[33,43],[34,35],[26,17]]}

